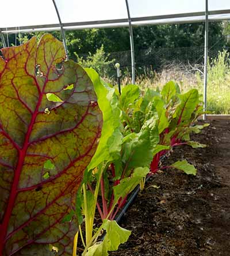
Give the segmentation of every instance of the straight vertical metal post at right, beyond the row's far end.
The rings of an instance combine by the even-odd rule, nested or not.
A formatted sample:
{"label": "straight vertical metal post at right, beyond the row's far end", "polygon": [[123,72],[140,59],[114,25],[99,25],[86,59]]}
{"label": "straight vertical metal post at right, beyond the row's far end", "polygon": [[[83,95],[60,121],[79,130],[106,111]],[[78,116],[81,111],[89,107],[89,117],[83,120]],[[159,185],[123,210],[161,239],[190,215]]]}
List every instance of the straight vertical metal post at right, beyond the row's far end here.
{"label": "straight vertical metal post at right, beyond the row's far end", "polygon": [[[205,0],[205,59],[204,59],[204,111],[207,107],[207,84],[208,84],[208,0]],[[203,116],[206,119],[206,114]]]}

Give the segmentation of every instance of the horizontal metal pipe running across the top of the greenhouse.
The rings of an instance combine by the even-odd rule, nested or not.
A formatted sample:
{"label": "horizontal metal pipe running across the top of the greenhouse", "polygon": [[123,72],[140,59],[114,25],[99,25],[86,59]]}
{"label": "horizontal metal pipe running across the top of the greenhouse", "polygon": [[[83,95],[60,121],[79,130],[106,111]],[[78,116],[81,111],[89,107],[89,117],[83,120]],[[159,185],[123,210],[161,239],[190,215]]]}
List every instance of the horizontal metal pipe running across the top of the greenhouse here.
{"label": "horizontal metal pipe running across the top of the greenhouse", "polygon": [[[58,9],[57,9],[58,12]],[[209,11],[208,12],[209,16],[210,15],[220,15],[220,14],[230,14],[230,9],[228,10],[217,10],[217,11]],[[170,15],[161,15],[161,16],[148,16],[148,17],[138,17],[138,18],[131,18],[131,22],[137,22],[135,25],[139,25],[138,22],[141,21],[150,21],[147,24],[143,25],[150,25],[151,21],[157,21],[157,20],[170,20],[173,18],[186,18],[186,17],[198,17],[198,16],[205,16],[205,12],[194,12],[194,13],[181,13],[181,14],[170,14]],[[59,16],[60,17],[60,16]],[[220,20],[228,20],[228,18],[224,18]],[[218,20],[218,21],[220,21]],[[59,20],[60,21],[60,20]],[[197,18],[197,20],[193,21],[185,21],[181,20],[179,23],[191,23],[191,22],[202,22],[204,21],[204,18]],[[209,19],[209,21],[211,21]],[[214,21],[214,20],[212,20]],[[35,32],[36,29],[43,29],[41,31],[47,31],[47,29],[50,29],[51,31],[57,31],[60,29],[60,24],[62,24],[62,28],[65,30],[71,30],[71,29],[77,29],[76,27],[79,27],[78,29],[82,29],[81,26],[89,26],[88,28],[95,28],[95,25],[99,25],[100,28],[106,28],[106,24],[111,24],[109,27],[118,27],[120,23],[127,23],[127,18],[122,18],[122,19],[116,19],[116,20],[101,20],[101,21],[86,21],[86,22],[69,22],[69,23],[62,23],[60,22],[59,24],[46,24],[46,25],[34,25],[34,26],[22,26],[20,27],[20,32]],[[178,21],[171,21],[171,24],[173,23],[178,23]],[[157,25],[158,22],[155,22],[155,25]],[[165,22],[159,22],[159,24],[168,24],[167,21]],[[135,26],[132,24],[132,26]],[[68,27],[68,29],[66,29]],[[75,27],[75,28],[71,28]],[[121,27],[128,27],[127,25],[121,25]],[[8,33],[15,33],[15,27],[10,27],[10,28],[0,28],[3,33],[6,31]]]}

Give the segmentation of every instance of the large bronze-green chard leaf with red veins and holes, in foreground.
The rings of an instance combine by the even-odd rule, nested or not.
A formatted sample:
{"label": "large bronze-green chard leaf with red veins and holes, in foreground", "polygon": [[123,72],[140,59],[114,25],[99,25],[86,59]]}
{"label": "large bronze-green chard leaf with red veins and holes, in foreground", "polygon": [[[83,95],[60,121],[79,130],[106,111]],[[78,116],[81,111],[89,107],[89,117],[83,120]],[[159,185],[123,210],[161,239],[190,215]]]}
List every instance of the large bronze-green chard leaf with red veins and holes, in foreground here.
{"label": "large bronze-green chard leaf with red veins and holes, in foreground", "polygon": [[51,35],[2,54],[0,255],[72,255],[77,225],[62,220],[101,134],[93,85],[72,61],[57,68],[64,48]]}

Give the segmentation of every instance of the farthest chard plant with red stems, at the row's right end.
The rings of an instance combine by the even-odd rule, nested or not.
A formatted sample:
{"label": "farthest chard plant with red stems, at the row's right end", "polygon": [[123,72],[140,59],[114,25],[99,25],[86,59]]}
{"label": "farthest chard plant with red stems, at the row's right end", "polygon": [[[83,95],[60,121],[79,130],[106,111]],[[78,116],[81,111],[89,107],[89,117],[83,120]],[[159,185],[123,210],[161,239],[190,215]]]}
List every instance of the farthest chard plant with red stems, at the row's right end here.
{"label": "farthest chard plant with red stems, at the row's right end", "polygon": [[[200,100],[197,89],[191,89],[182,94],[179,86],[170,81],[164,86],[159,95],[154,97],[152,106],[156,108],[160,116],[160,145],[169,146],[170,149],[179,145],[190,145],[193,148],[204,148],[206,146],[190,140],[191,133],[200,133],[204,127],[208,126],[208,124],[196,125],[198,117],[204,114],[203,102]],[[152,173],[158,170],[160,157],[167,150],[161,150],[154,156],[151,163]],[[178,162],[178,164],[180,167],[185,166],[184,161]],[[190,165],[187,165],[187,167],[190,170]],[[186,169],[184,171],[186,172]],[[193,172],[193,174],[196,174],[196,172]]]}

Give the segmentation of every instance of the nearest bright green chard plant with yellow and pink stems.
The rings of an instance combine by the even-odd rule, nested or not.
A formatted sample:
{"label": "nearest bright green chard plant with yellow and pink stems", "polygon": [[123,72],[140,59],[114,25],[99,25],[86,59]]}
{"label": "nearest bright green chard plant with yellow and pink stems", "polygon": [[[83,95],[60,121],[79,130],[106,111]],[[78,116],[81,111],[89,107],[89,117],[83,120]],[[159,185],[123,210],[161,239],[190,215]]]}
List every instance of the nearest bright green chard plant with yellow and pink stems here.
{"label": "nearest bright green chard plant with yellow and pink stems", "polygon": [[[146,124],[139,133],[125,134],[116,90],[103,84],[94,70],[86,71],[98,96],[104,126],[97,152],[87,167],[82,190],[78,193],[78,202],[81,204],[78,204],[76,214],[79,224],[85,223],[85,238],[81,225],[79,226],[79,234],[85,247],[82,255],[100,255],[97,253],[102,247],[103,255],[108,255],[108,251],[116,250],[120,243],[128,239],[130,232],[119,227],[114,218],[125,204],[129,193],[148,174],[152,149],[158,143],[159,134],[156,122],[155,125],[154,122]],[[96,209],[101,216],[102,225],[94,230]],[[122,239],[119,235],[110,237],[111,233],[105,228],[108,225],[116,226],[117,231],[113,234],[118,232]],[[96,243],[103,231],[106,232],[105,239],[110,240],[110,245],[107,244],[106,247],[105,239]]]}

